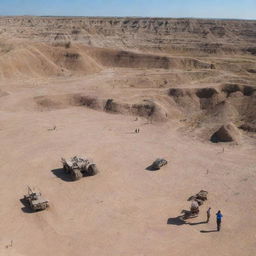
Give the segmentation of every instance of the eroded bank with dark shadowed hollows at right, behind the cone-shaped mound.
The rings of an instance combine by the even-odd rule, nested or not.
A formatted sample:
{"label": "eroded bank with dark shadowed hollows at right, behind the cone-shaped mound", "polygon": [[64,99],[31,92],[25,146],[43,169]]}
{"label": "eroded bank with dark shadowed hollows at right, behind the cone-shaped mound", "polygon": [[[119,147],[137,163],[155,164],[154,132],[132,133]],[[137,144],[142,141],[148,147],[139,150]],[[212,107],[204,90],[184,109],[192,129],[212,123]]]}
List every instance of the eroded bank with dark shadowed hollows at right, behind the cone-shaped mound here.
{"label": "eroded bank with dark shadowed hollows at right, behind the cone-shaped mound", "polygon": [[209,88],[172,88],[169,96],[184,113],[201,112],[219,121],[243,119],[252,122],[256,111],[256,87],[227,84]]}

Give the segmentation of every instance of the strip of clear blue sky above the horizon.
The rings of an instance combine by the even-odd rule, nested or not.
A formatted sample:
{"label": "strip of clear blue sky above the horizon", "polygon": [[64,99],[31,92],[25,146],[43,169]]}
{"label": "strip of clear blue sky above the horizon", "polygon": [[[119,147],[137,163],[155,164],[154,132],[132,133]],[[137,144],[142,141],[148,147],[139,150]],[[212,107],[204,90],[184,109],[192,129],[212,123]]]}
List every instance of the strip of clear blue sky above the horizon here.
{"label": "strip of clear blue sky above the horizon", "polygon": [[256,19],[256,0],[0,0],[0,15]]}

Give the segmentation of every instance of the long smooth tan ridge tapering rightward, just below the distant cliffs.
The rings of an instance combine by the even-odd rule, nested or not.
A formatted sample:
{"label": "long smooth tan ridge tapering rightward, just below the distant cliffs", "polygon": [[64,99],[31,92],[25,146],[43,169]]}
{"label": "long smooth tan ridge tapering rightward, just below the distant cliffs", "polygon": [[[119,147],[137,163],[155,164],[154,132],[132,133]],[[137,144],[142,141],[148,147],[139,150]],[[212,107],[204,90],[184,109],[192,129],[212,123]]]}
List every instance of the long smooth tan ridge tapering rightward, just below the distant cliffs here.
{"label": "long smooth tan ridge tapering rightward, just below the distant cliffs", "polygon": [[[5,49],[8,47],[5,44]],[[213,70],[214,65],[196,58],[166,57],[71,44],[10,44],[0,55],[0,79],[88,75],[105,68]],[[186,75],[188,76],[188,74]]]}

